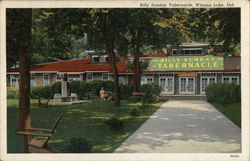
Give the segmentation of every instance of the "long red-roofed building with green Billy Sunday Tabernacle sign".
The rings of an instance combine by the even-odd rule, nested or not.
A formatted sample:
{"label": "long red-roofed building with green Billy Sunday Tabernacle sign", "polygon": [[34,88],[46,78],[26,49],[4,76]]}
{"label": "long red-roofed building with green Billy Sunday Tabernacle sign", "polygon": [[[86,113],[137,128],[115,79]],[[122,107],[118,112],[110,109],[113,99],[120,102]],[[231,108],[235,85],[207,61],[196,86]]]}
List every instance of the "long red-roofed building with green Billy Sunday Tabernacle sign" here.
{"label": "long red-roofed building with green Billy Sunday Tabernacle sign", "polygon": [[[211,83],[240,84],[240,54],[209,55],[208,44],[182,44],[168,55],[144,55],[140,61],[147,67],[141,72],[141,84],[153,82],[162,87],[162,95],[204,95]],[[74,60],[57,60],[32,66],[31,86],[51,85],[68,74],[68,81],[113,80],[113,71],[105,52],[88,52],[89,57]],[[133,82],[133,72],[127,59],[117,62],[119,84]],[[18,68],[7,72],[8,86],[18,86]]]}

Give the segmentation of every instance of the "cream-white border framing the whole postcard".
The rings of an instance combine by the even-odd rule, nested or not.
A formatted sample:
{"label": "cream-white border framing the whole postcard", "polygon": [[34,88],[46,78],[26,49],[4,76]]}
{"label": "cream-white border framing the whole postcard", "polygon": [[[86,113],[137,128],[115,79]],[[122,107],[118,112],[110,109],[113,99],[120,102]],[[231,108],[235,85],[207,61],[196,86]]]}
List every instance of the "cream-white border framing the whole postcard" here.
{"label": "cream-white border framing the whole postcard", "polygon": [[[242,152],[241,153],[126,153],[126,154],[13,154],[7,153],[7,136],[6,136],[6,30],[5,30],[5,9],[6,8],[145,8],[140,6],[141,3],[148,3],[150,8],[152,3],[158,3],[158,8],[194,8],[195,3],[208,4],[209,7],[214,8],[214,3],[223,4],[220,8],[240,7],[241,8],[241,89],[242,89]],[[172,5],[170,5],[172,3]],[[233,4],[229,6],[228,4]],[[119,160],[119,161],[166,161],[166,160],[224,160],[224,161],[239,161],[250,160],[249,158],[249,1],[247,0],[200,0],[200,1],[185,1],[185,0],[79,0],[79,1],[16,1],[16,0],[3,0],[0,1],[0,128],[1,128],[1,156],[0,160],[4,161],[34,161],[34,160],[65,160],[65,161],[94,161],[94,160]],[[176,5],[173,5],[176,4]]]}

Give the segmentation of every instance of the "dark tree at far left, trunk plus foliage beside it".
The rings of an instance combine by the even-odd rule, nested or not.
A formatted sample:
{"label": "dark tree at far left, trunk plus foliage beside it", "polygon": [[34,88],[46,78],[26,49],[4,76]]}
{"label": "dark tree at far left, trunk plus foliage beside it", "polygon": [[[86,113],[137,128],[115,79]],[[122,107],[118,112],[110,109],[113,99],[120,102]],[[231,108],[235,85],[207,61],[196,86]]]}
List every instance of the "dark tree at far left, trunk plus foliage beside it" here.
{"label": "dark tree at far left, trunk plus foliage beside it", "polygon": [[[19,56],[19,120],[18,129],[30,128],[30,59],[32,50],[32,9],[7,9],[7,52]],[[13,30],[11,30],[13,29]],[[9,35],[10,34],[10,35]],[[11,50],[13,49],[13,51]],[[16,53],[14,53],[16,52]],[[15,60],[15,59],[14,59]],[[28,152],[28,136],[24,136],[24,150]]]}

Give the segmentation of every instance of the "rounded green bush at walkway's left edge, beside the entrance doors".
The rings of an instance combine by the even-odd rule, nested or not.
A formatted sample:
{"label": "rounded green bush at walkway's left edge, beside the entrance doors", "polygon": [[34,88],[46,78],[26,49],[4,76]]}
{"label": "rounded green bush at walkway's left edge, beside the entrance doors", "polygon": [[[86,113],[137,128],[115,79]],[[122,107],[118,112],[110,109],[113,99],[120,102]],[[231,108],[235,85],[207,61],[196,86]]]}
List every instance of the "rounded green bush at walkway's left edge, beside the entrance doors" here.
{"label": "rounded green bush at walkway's left edge, beside the entrance doors", "polygon": [[160,99],[161,87],[155,83],[143,84],[140,91],[146,93],[143,100],[145,103],[157,102]]}

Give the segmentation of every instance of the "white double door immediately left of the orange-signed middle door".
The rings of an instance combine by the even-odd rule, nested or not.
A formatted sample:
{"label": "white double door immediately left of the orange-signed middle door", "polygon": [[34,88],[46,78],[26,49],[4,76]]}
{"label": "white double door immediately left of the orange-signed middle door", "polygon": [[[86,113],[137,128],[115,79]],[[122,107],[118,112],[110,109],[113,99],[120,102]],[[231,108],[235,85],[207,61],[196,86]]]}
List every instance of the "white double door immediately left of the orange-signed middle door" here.
{"label": "white double door immediately left of the orange-signed middle door", "polygon": [[173,77],[160,77],[159,82],[162,94],[174,94],[174,78]]}

